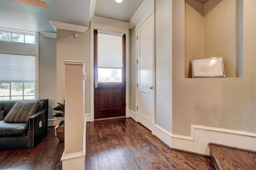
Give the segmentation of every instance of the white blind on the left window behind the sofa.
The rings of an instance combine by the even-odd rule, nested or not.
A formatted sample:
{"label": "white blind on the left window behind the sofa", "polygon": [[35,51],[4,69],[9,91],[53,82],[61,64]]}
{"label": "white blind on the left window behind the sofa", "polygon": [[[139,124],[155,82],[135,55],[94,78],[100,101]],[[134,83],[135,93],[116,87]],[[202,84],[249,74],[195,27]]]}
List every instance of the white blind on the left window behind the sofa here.
{"label": "white blind on the left window behind the sofa", "polygon": [[35,57],[0,53],[0,82],[35,82]]}

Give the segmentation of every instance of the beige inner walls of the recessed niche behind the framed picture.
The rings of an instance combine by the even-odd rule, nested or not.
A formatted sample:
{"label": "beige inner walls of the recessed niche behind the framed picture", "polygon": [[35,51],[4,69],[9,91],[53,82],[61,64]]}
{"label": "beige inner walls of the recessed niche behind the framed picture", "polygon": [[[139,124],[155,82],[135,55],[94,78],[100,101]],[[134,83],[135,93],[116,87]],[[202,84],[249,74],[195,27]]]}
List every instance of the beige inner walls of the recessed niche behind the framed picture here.
{"label": "beige inner walls of the recessed niche behind the framed picture", "polygon": [[186,78],[191,78],[188,76],[191,59],[219,56],[223,57],[226,77],[242,77],[241,2],[209,0],[202,4],[185,0]]}

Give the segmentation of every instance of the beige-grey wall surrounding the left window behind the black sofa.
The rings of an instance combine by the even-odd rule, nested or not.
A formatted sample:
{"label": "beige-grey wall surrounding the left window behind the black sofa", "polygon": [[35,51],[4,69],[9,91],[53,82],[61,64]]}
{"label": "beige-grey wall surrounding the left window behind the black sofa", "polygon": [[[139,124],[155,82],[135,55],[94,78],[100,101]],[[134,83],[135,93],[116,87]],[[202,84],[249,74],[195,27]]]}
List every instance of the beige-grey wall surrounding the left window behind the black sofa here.
{"label": "beige-grey wall surrounding the left window behind the black sofa", "polygon": [[[0,41],[0,51],[14,53],[36,53],[36,45]],[[56,39],[39,34],[39,89],[38,98],[49,99],[48,118],[56,106]]]}

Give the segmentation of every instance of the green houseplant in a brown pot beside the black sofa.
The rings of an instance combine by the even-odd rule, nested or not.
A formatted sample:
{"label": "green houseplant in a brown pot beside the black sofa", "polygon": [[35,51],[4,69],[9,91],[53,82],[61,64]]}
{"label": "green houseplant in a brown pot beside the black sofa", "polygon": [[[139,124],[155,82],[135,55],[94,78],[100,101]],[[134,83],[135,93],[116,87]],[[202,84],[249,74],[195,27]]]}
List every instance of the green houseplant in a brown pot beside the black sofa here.
{"label": "green houseplant in a brown pot beside the black sofa", "polygon": [[[53,110],[57,111],[56,113],[53,113],[52,117],[65,117],[65,100],[63,100],[63,104],[57,103],[58,106],[54,107]],[[62,120],[59,123],[59,127],[56,128],[56,135],[60,141],[64,141],[64,125],[65,121]]]}

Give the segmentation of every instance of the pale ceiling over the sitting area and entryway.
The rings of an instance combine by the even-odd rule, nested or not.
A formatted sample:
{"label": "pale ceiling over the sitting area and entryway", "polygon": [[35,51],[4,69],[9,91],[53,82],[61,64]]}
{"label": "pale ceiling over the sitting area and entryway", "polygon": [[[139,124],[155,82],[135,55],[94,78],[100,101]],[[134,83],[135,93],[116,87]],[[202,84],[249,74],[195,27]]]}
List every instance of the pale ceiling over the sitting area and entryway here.
{"label": "pale ceiling over the sitting area and entryway", "polygon": [[24,31],[56,31],[49,20],[90,26],[90,3],[95,16],[129,22],[143,0],[45,0],[48,8],[0,0],[0,27]]}

